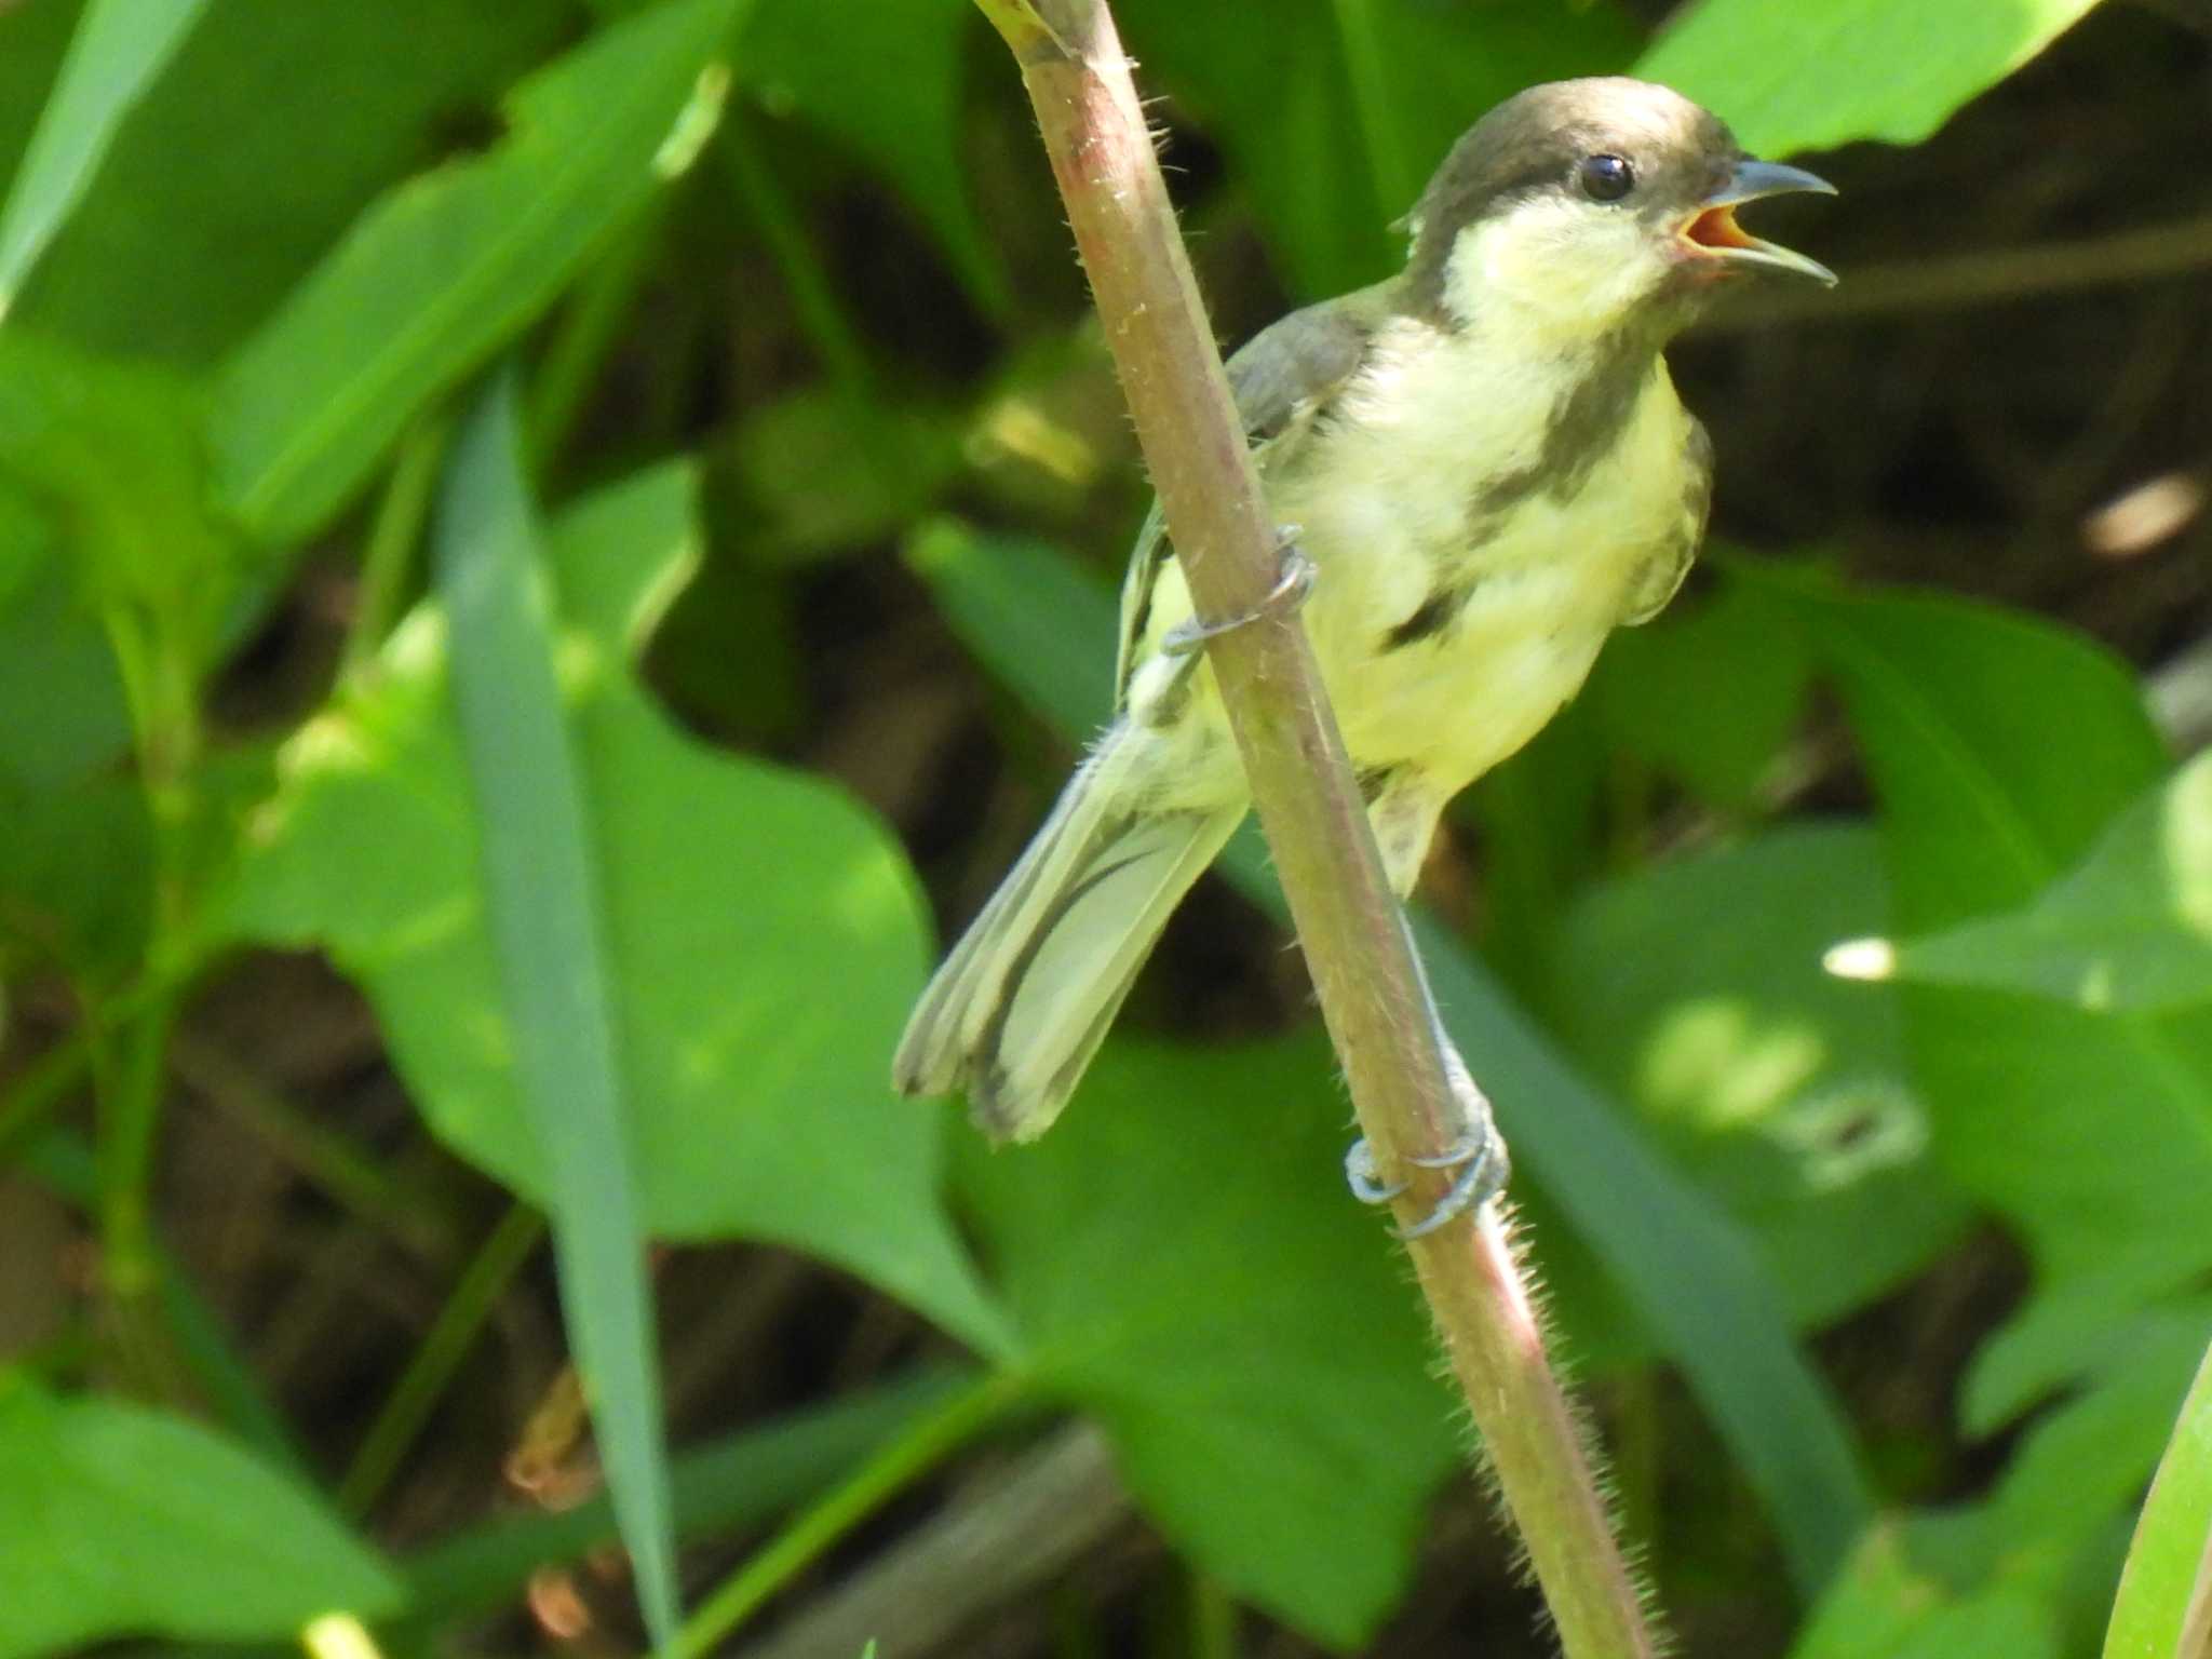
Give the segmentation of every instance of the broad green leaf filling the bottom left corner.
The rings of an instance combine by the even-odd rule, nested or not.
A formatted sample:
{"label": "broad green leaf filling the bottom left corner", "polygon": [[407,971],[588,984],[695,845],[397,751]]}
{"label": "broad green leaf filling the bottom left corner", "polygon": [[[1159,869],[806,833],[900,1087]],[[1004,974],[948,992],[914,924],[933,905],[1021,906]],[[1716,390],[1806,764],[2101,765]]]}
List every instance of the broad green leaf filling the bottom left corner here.
{"label": "broad green leaf filling the bottom left corner", "polygon": [[400,1599],[290,1480],[206,1429],[0,1371],[0,1659],[131,1635],[276,1641]]}

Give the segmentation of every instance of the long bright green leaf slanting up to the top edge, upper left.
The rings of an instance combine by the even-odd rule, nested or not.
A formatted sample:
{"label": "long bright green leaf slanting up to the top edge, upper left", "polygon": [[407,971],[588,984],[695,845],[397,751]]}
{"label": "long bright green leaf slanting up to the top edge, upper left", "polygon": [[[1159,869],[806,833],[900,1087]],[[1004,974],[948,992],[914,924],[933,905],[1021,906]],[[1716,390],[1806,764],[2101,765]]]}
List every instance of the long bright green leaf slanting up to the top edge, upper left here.
{"label": "long bright green leaf slanting up to the top edge, upper left", "polygon": [[480,159],[389,192],[223,365],[230,507],[290,542],[343,507],[414,411],[538,316],[679,175],[721,111],[741,0],[664,0],[515,88]]}

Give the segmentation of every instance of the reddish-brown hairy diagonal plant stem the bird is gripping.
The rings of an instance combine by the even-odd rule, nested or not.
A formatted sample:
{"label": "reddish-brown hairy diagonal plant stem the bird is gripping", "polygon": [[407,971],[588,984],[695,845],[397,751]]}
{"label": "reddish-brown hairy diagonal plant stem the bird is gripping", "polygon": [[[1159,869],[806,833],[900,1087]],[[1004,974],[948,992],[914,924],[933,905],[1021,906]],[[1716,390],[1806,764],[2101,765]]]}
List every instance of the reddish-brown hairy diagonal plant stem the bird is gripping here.
{"label": "reddish-brown hairy diagonal plant stem the bird is gripping", "polygon": [[[1276,538],[1113,20],[1099,0],[978,4],[1022,66],[1199,615],[1254,615]],[[1398,1217],[1416,1221],[1447,1177],[1407,1157],[1447,1148],[1458,1110],[1314,653],[1294,615],[1272,615],[1214,635],[1208,661],[1360,1128],[1407,1177]],[[1568,1659],[1650,1655],[1495,1208],[1409,1252]]]}

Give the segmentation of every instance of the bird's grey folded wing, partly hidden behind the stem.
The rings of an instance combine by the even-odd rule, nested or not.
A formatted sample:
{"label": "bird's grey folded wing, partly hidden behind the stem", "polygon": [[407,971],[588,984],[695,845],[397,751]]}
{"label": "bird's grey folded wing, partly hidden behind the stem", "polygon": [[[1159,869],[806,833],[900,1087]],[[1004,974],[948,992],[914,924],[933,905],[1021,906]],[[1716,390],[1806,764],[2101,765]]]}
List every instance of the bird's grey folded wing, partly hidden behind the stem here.
{"label": "bird's grey folded wing, partly hidden behind the stem", "polygon": [[[1245,442],[1256,451],[1261,482],[1265,482],[1267,469],[1281,465],[1281,458],[1305,436],[1314,411],[1360,367],[1383,310],[1380,288],[1327,305],[1307,305],[1254,334],[1228,361],[1230,394],[1237,398]],[[1128,701],[1128,681],[1137,672],[1137,646],[1152,617],[1152,591],[1172,557],[1168,520],[1155,500],[1152,511],[1144,515],[1144,529],[1137,531],[1137,544],[1130,549],[1128,575],[1121,580],[1121,648],[1113,672],[1115,712],[1121,712]]]}

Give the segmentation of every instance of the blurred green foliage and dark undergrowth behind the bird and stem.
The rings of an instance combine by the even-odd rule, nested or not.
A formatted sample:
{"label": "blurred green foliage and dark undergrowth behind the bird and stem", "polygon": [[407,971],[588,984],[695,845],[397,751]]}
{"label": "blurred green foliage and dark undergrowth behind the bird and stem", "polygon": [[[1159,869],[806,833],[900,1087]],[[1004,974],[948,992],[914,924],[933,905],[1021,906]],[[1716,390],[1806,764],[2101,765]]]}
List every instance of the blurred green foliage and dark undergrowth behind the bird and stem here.
{"label": "blurred green foliage and dark undergrowth behind the bird and stem", "polygon": [[[2172,1652],[2212,13],[1117,11],[1228,343],[1533,80],[1843,186],[1422,940],[1686,1652]],[[964,0],[13,0],[0,155],[0,1655],[1548,1650],[1250,836],[887,1095],[1144,509]]]}

